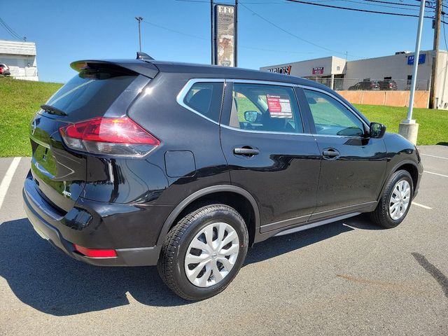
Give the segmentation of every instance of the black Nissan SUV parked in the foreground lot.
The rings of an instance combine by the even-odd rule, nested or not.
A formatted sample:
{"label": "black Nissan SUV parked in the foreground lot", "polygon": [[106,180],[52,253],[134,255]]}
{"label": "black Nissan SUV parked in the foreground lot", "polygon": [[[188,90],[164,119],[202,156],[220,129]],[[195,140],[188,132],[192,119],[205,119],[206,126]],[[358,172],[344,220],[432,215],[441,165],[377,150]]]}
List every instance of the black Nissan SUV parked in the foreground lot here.
{"label": "black Nissan SUV parked in the foreground lot", "polygon": [[29,220],[77,260],[158,265],[188,300],[269,237],[360,213],[393,228],[419,188],[416,147],[313,81],[149,57],[71,67],[31,123]]}

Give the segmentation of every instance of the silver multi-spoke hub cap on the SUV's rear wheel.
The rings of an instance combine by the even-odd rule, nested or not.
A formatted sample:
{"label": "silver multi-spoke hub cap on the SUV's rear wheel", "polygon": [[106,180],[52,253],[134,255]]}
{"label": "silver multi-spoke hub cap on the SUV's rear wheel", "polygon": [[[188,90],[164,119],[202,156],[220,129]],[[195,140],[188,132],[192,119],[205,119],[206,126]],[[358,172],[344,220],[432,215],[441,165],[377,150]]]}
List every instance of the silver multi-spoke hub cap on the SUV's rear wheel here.
{"label": "silver multi-spoke hub cap on the SUV's rear wheel", "polygon": [[188,246],[185,272],[198,287],[209,287],[222,281],[237,261],[239,239],[227,223],[211,223],[200,230]]}

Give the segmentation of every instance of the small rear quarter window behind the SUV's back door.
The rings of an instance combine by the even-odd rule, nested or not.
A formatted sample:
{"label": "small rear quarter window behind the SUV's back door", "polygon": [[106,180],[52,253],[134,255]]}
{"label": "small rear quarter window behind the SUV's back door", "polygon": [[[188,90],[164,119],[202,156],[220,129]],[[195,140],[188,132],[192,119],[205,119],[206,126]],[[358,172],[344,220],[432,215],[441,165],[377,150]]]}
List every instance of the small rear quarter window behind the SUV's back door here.
{"label": "small rear quarter window behind the SUV's back door", "polygon": [[183,102],[197,113],[218,123],[223,102],[223,83],[195,83]]}

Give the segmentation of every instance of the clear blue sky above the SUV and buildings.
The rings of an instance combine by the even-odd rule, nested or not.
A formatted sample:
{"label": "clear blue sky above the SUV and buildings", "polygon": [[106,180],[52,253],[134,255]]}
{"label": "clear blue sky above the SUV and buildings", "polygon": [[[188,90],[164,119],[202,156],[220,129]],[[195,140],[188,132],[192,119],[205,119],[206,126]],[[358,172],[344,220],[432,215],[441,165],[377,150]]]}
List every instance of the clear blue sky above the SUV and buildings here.
{"label": "clear blue sky above the SUV and buildings", "polygon": [[[210,5],[200,2],[204,0],[193,1],[198,2],[3,0],[3,8],[7,10],[0,16],[20,36],[36,42],[40,79],[63,83],[74,75],[69,67],[73,60],[134,58],[139,48],[135,16],[151,22],[143,22],[141,26],[142,50],[155,59],[209,63]],[[400,3],[400,0],[388,1]],[[418,7],[409,6],[413,10],[405,11],[379,3],[363,4],[363,0],[315,2],[418,14]],[[241,67],[258,69],[329,55],[345,58],[345,52],[349,53],[349,59],[376,57],[415,48],[417,18],[357,13],[282,0],[240,0],[240,3],[295,36],[323,47],[286,34],[239,6]],[[402,3],[419,4],[415,0]],[[12,39],[2,27],[0,39]],[[443,34],[441,41],[444,49]],[[426,19],[421,47],[428,50],[432,45],[431,20]]]}

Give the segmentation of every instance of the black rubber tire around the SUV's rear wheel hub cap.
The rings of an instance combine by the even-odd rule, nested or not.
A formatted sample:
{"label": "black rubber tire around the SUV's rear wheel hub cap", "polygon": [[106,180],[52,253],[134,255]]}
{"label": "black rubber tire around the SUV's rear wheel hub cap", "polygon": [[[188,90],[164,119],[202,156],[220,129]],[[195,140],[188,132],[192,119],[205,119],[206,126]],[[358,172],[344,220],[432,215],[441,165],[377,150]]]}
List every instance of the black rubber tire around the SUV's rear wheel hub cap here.
{"label": "black rubber tire around the SUV's rear wheel hub cap", "polygon": [[[230,272],[218,283],[209,287],[195,286],[188,279],[184,266],[188,246],[200,230],[218,222],[227,223],[237,232],[237,260]],[[162,281],[180,297],[186,300],[204,300],[221,293],[232,282],[243,265],[247,248],[248,232],[241,215],[225,204],[206,205],[182,218],[168,232],[160,253],[158,272]]]}

